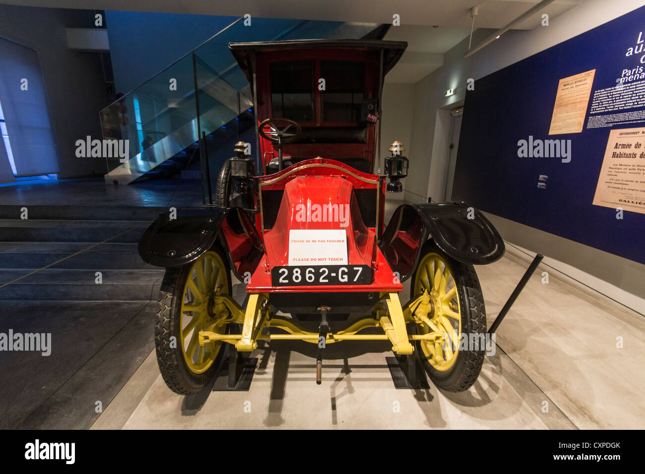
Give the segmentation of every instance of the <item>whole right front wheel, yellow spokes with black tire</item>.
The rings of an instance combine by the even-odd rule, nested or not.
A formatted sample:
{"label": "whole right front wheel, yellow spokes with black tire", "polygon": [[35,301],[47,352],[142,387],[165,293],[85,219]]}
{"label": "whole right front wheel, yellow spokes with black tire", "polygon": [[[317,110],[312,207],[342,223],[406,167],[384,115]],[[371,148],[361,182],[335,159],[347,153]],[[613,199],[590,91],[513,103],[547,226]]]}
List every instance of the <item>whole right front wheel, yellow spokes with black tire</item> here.
{"label": "whole right front wheel, yellow spokes with black tire", "polygon": [[447,391],[468,389],[479,376],[483,345],[471,334],[486,333],[486,313],[479,279],[472,265],[448,257],[432,241],[421,250],[412,275],[410,297],[428,295],[430,304],[415,324],[417,334],[439,333],[435,341],[416,341],[417,353],[435,385]]}

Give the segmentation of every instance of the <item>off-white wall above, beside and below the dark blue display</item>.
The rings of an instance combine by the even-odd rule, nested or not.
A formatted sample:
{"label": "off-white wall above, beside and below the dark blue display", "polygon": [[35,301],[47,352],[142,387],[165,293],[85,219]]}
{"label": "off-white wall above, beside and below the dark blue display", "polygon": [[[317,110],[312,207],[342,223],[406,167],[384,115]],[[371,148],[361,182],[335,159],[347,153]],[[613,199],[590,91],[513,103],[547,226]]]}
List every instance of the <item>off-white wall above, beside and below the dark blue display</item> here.
{"label": "off-white wall above, beside and below the dark blue display", "polygon": [[[468,50],[468,38],[457,44],[444,56],[444,65],[424,77],[415,84],[415,94],[412,108],[412,137],[410,146],[410,175],[406,182],[406,201],[419,202],[417,194],[435,196],[442,194],[444,188],[445,170],[448,154],[444,153],[441,143],[444,137],[445,125],[437,123],[437,110],[450,104],[464,100],[466,81],[468,78],[477,79],[491,74],[510,64],[521,61],[550,48],[555,44],[566,41],[575,35],[582,34],[591,28],[607,23],[645,5],[642,0],[587,0],[568,12],[551,19],[550,26],[536,28],[531,31],[515,31],[505,33],[499,39],[489,44],[471,57],[464,59]],[[644,25],[645,26],[645,25]],[[491,34],[491,30],[475,30],[473,44]],[[455,95],[444,97],[449,88],[456,88]],[[493,111],[494,112],[494,111]],[[468,113],[468,104],[464,109]],[[441,112],[439,113],[441,117]],[[432,151],[431,151],[432,150]],[[415,193],[415,194],[412,194]],[[611,293],[612,288],[620,288],[628,293],[645,297],[645,265],[626,261],[595,248],[566,241],[556,235],[539,232],[517,222],[508,221],[491,215],[493,224],[500,226],[502,237],[531,252],[540,252],[554,261],[573,266],[582,272],[597,277],[606,282],[599,285],[597,279],[590,279],[590,286],[599,291]],[[565,242],[566,241],[566,242]],[[580,278],[584,278],[580,276]],[[614,294],[613,291],[612,294]],[[628,301],[616,297],[619,301]],[[628,304],[627,302],[625,304]]]}

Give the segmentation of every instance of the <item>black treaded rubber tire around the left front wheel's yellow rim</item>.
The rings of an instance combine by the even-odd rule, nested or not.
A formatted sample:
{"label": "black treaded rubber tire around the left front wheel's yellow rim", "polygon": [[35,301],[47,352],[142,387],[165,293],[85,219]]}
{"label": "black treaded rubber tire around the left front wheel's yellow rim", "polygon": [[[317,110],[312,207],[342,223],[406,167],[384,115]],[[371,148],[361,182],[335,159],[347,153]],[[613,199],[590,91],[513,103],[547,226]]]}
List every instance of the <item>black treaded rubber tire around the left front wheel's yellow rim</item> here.
{"label": "black treaded rubber tire around the left front wheel's yellow rim", "polygon": [[[210,250],[217,252],[226,266],[230,291],[232,288],[231,272],[228,268],[226,255],[224,255],[219,246],[213,246]],[[175,341],[181,341],[181,337],[179,337],[179,313],[181,311],[181,301],[184,297],[184,284],[191,267],[192,263],[166,268],[166,273],[161,282],[161,289],[159,290],[159,308],[155,315],[155,351],[159,371],[168,388],[179,395],[190,395],[201,391],[213,379],[223,360],[226,360],[228,356],[228,344],[223,342],[210,368],[204,373],[194,373],[186,366],[179,344],[175,344],[175,348],[170,346],[171,337],[175,337]]]}

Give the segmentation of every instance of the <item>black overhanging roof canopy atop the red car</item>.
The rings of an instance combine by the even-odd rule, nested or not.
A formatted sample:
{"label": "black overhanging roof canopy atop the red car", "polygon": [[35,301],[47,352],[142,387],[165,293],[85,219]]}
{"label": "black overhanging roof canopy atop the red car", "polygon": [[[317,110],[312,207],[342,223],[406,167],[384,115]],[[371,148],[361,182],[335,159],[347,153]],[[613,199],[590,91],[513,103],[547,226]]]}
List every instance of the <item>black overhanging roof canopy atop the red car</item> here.
{"label": "black overhanging roof canopy atop the red car", "polygon": [[339,48],[354,51],[383,52],[383,76],[394,67],[401,59],[401,55],[408,47],[405,41],[382,41],[378,39],[293,39],[288,41],[256,41],[252,43],[229,43],[237,64],[246,75],[246,79],[253,83],[252,54],[257,52],[273,52],[281,50],[301,50],[319,48]]}

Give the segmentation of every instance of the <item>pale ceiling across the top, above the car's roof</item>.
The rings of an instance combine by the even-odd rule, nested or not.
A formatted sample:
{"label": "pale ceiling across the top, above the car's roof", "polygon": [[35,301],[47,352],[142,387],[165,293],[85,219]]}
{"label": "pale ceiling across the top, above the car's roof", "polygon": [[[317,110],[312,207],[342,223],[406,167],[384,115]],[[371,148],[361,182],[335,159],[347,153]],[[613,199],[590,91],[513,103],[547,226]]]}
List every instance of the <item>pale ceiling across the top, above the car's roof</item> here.
{"label": "pale ceiling across the top, above the car's roof", "polygon": [[[392,23],[386,39],[408,41],[408,50],[388,74],[390,83],[416,83],[443,64],[443,54],[470,34],[470,8],[479,7],[475,28],[498,30],[540,0],[0,0],[0,3],[56,8],[134,10],[204,15],[317,19],[361,23]],[[515,26],[532,30],[541,15],[552,20],[585,0],[555,0]]]}

